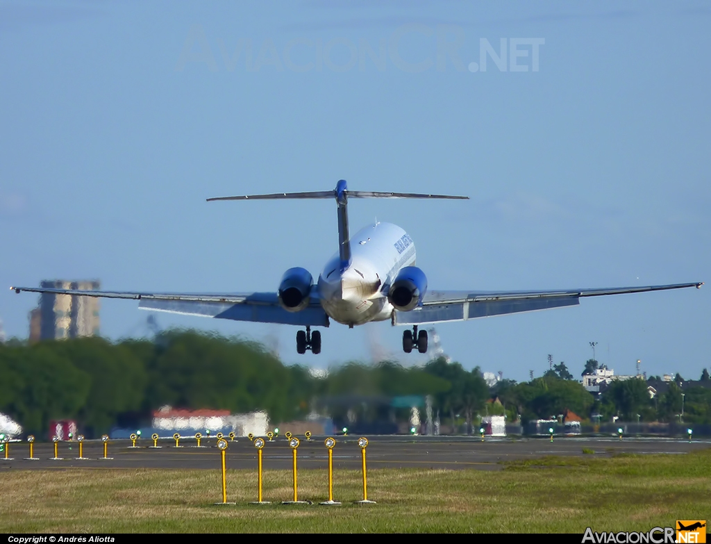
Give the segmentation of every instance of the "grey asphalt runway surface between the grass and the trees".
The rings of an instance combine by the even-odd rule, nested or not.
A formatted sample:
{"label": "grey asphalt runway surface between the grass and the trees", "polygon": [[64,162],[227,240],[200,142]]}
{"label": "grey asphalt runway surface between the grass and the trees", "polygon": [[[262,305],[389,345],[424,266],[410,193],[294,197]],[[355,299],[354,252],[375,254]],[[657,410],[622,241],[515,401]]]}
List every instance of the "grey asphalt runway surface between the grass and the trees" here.
{"label": "grey asphalt runway surface between the grass and the trees", "polygon": [[[361,452],[357,436],[336,436],[333,449],[333,466],[341,469],[360,469]],[[320,469],[328,466],[328,450],[324,446],[325,437],[312,437],[307,441],[299,437],[301,444],[297,451],[297,462],[302,469]],[[619,453],[635,454],[685,454],[697,449],[711,448],[710,440],[617,437],[555,437],[553,442],[541,438],[491,438],[481,442],[479,437],[368,437],[366,460],[369,469],[379,468],[425,468],[425,469],[503,469],[501,462],[518,459],[535,459],[550,455],[581,456],[583,449],[594,451],[594,457],[610,457]],[[38,460],[26,460],[28,444],[11,442],[9,457],[0,454],[0,471],[28,469],[67,468],[119,468],[119,469],[215,469],[220,466],[220,450],[213,437],[203,439],[202,447],[196,447],[194,438],[181,439],[181,447],[175,447],[173,439],[160,439],[160,448],[149,447],[151,439],[139,439],[132,448],[130,440],[109,442],[108,457],[103,457],[100,441],[85,441],[83,457],[79,457],[77,442],[60,442],[58,457],[54,456],[54,445],[41,443],[34,445],[34,456]],[[262,450],[264,469],[290,469],[292,449],[284,437],[274,442],[266,442]],[[14,459],[13,459],[14,458]],[[257,450],[247,438],[228,442],[227,466],[229,469],[255,469]]]}

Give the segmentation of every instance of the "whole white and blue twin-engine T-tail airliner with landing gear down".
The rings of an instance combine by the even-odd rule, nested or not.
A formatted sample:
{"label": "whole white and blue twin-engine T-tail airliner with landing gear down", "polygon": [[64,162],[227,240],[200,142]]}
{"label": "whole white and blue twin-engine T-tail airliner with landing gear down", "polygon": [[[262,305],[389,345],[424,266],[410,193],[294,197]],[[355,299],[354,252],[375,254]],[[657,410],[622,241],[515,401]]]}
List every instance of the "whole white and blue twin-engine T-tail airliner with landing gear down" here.
{"label": "whole white and blue twin-engine T-tail airliner with landing gear down", "polygon": [[289,268],[277,292],[223,294],[160,294],[77,289],[11,287],[16,292],[138,299],[139,308],[176,314],[303,326],[296,333],[296,351],[321,352],[321,333],[330,320],[353,327],[368,321],[389,320],[412,325],[402,334],[402,349],[427,352],[427,331],[422,324],[466,321],[477,317],[514,314],[579,304],[580,297],[701,287],[703,282],[617,287],[613,289],[561,289],[557,291],[428,291],[427,277],[415,266],[415,243],[397,225],[375,223],[348,235],[348,198],[453,198],[466,196],[348,191],[341,180],[333,191],[224,196],[208,201],[277,198],[334,198],[338,205],[338,252],[331,257],[318,282],[304,268]]}

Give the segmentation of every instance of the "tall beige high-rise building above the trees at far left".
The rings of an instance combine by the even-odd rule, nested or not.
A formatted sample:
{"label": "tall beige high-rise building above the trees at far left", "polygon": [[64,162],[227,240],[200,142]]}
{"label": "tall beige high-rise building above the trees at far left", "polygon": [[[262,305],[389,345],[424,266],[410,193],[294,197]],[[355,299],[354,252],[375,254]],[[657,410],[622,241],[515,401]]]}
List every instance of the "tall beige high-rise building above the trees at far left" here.
{"label": "tall beige high-rise building above the trees at far left", "polygon": [[[41,282],[49,289],[99,289],[98,281],[69,282],[53,279]],[[77,338],[99,334],[99,299],[68,294],[43,293],[40,304],[30,312],[30,341]]]}

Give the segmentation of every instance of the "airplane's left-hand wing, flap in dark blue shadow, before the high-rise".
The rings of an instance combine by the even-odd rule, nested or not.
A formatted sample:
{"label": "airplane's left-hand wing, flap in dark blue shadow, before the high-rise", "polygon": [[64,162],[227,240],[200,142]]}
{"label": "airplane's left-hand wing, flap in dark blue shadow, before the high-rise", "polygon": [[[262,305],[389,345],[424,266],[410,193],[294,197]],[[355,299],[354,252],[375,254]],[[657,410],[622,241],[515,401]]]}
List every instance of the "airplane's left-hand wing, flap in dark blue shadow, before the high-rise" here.
{"label": "airplane's left-hand wing, flap in dark blue shadow, before the high-rise", "polygon": [[134,299],[139,308],[167,311],[173,314],[278,323],[286,325],[328,326],[328,315],[319,300],[311,295],[311,303],[301,311],[286,311],[279,304],[277,293],[152,293],[119,291],[85,291],[45,287],[11,287],[15,292],[69,294],[80,297]]}

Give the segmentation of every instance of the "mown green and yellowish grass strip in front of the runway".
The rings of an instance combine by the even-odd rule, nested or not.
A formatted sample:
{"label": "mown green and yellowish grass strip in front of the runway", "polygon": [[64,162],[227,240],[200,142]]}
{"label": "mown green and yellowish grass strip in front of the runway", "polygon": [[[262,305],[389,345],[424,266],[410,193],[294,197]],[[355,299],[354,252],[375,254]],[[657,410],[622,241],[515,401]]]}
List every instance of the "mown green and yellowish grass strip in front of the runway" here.
{"label": "mown green and yellowish grass strip in front of the runway", "polygon": [[612,458],[547,457],[506,464],[503,471],[378,469],[368,473],[374,505],[363,498],[359,471],[336,471],[334,498],[326,471],[264,474],[228,470],[228,501],[219,471],[53,469],[0,471],[0,533],[456,532],[580,533],[673,526],[711,518],[711,450],[684,455]]}

